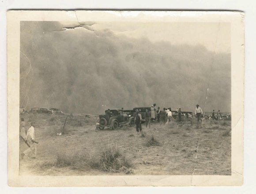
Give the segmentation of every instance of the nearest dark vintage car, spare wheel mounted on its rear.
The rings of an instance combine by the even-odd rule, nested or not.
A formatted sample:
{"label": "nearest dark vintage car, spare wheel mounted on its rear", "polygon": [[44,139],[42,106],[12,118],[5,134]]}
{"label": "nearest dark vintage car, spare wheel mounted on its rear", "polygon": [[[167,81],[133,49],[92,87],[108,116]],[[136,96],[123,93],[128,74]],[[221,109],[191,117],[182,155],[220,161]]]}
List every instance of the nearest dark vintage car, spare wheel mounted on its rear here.
{"label": "nearest dark vintage car, spare wheel mounted on its rear", "polygon": [[99,115],[99,121],[96,123],[96,128],[103,130],[105,127],[110,129],[117,129],[129,125],[130,127],[134,126],[134,118],[123,113],[123,110],[120,108],[110,109],[105,111],[105,115]]}

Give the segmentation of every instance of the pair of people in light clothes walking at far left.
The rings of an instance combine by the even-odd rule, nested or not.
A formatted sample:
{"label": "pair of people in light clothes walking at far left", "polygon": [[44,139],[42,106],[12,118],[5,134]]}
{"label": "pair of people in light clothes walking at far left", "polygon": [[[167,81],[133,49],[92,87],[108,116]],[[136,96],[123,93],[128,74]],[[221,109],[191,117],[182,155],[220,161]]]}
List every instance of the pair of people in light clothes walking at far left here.
{"label": "pair of people in light clothes walking at far left", "polygon": [[21,154],[21,158],[23,159],[24,156],[31,155],[31,158],[34,159],[36,158],[36,155],[37,155],[36,144],[38,143],[37,141],[35,141],[35,135],[34,135],[35,122],[34,121],[30,122],[30,128],[28,129],[27,133],[25,132],[25,126],[26,126],[26,123],[24,121],[24,118],[21,118],[21,123],[19,127],[20,138],[22,139],[22,141],[26,143],[27,146],[29,146],[29,148],[26,149]]}

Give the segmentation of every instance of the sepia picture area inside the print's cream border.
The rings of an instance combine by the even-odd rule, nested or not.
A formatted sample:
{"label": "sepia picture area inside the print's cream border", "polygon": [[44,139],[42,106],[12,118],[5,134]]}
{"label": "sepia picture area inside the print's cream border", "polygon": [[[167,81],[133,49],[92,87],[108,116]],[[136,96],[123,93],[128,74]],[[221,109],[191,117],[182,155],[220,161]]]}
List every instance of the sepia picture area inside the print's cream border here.
{"label": "sepia picture area inside the print's cream border", "polygon": [[21,22],[20,173],[231,175],[229,26],[124,23]]}

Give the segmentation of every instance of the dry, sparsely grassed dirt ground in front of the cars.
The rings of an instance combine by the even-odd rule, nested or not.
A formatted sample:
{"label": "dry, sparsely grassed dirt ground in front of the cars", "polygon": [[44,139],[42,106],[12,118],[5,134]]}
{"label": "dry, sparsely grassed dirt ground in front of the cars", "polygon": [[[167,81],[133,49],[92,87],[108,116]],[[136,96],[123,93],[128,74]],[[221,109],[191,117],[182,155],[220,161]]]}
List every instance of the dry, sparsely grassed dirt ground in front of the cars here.
{"label": "dry, sparsely grassed dirt ground in front of the cars", "polygon": [[[196,120],[166,125],[142,125],[145,137],[135,127],[118,130],[96,130],[98,116],[75,115],[67,118],[67,134],[57,135],[63,129],[65,115],[24,114],[26,130],[34,120],[37,158],[20,157],[20,175],[124,175],[87,168],[49,165],[60,153],[67,155],[94,153],[105,147],[117,146],[132,162],[132,175],[231,175],[231,121]],[[151,135],[160,146],[147,146]],[[20,140],[20,154],[27,149]]]}

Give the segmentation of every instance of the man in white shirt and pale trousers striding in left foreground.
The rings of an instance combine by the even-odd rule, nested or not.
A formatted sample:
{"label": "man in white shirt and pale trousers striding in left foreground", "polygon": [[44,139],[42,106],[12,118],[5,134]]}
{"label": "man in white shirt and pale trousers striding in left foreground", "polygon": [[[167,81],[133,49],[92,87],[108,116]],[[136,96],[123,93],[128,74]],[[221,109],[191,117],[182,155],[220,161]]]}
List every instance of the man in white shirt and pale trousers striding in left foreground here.
{"label": "man in white shirt and pale trousers striding in left foreground", "polygon": [[28,129],[27,134],[26,134],[26,143],[28,145],[30,145],[30,147],[28,149],[26,149],[22,154],[21,154],[21,158],[23,159],[23,157],[25,155],[28,154],[32,154],[32,159],[36,158],[37,155],[37,148],[36,148],[36,143],[38,143],[37,141],[35,141],[35,122],[32,121],[30,123],[31,127]]}

